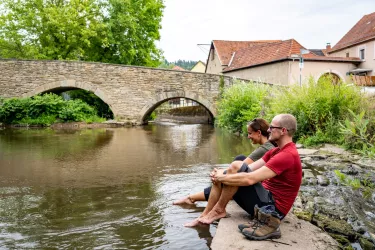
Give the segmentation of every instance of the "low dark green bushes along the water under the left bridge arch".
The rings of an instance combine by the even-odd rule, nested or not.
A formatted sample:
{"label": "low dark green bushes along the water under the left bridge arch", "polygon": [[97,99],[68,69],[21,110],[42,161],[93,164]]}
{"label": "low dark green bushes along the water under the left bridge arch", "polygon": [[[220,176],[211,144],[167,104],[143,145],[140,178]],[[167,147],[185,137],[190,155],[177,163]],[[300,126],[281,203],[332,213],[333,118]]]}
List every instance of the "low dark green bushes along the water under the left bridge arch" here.
{"label": "low dark green bushes along the water under the left bridge arch", "polygon": [[3,99],[0,122],[27,126],[50,126],[56,122],[103,122],[97,110],[80,99],[64,100],[56,94]]}

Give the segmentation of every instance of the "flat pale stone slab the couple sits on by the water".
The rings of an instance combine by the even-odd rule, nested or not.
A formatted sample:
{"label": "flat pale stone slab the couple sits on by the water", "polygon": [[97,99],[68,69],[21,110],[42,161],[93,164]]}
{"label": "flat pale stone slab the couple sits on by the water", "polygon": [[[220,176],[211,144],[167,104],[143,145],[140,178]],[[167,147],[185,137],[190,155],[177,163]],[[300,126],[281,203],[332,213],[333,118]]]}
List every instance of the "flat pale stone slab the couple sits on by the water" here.
{"label": "flat pale stone slab the couple sits on by the water", "polygon": [[330,250],[339,249],[338,244],[327,233],[309,222],[299,220],[289,213],[280,229],[282,237],[270,241],[250,241],[241,234],[237,225],[248,220],[247,214],[235,202],[228,204],[229,218],[220,220],[213,238],[212,250],[227,249],[277,249],[277,250]]}

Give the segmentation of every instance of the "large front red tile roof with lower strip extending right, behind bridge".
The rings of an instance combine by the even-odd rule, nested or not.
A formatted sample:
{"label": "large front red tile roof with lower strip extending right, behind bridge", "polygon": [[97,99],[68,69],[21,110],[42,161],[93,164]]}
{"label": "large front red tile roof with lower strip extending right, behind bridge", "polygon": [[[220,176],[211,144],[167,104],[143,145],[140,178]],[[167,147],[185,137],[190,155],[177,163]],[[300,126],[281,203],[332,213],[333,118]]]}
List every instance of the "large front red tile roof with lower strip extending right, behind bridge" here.
{"label": "large front red tile roof with lower strip extending right, behind bridge", "polygon": [[[294,39],[241,49],[234,53],[230,64],[223,71],[228,72],[271,62],[298,59],[300,49],[305,48]],[[303,58],[307,61],[360,62],[360,59],[355,57],[318,56],[312,52],[303,55]]]}

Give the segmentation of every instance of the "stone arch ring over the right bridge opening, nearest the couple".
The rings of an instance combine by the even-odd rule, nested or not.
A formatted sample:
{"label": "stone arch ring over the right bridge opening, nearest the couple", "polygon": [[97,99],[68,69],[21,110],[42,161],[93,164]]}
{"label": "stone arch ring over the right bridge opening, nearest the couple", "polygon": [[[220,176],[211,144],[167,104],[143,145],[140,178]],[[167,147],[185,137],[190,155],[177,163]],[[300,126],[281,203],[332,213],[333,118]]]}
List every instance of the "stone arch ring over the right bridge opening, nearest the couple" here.
{"label": "stone arch ring over the right bridge opening, nearest the couple", "polygon": [[139,112],[139,120],[138,122],[140,124],[144,124],[144,120],[146,117],[155,109],[157,108],[160,104],[162,104],[165,101],[168,101],[173,98],[186,98],[193,100],[203,107],[205,107],[212,118],[216,116],[216,107],[210,103],[207,99],[203,98],[202,96],[192,93],[190,91],[170,91],[170,92],[161,92],[156,95],[156,97],[152,100],[150,100]]}

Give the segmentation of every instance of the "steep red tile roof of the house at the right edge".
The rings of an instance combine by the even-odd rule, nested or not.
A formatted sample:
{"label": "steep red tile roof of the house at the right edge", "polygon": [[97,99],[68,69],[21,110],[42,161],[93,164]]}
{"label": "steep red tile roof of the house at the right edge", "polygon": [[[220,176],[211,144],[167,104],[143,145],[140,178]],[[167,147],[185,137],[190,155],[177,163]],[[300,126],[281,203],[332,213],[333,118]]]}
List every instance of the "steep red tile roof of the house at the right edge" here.
{"label": "steep red tile roof of the house at the right edge", "polygon": [[375,38],[375,12],[365,15],[341,40],[328,51],[341,50],[349,46]]}

